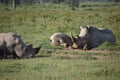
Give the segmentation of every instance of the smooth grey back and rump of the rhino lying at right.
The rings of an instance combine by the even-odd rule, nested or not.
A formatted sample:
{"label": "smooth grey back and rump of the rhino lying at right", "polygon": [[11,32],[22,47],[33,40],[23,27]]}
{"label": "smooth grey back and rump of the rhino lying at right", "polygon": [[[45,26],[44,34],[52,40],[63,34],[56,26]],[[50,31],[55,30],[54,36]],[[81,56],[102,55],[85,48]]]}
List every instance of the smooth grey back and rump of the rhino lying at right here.
{"label": "smooth grey back and rump of the rhino lying at right", "polygon": [[108,41],[109,43],[115,43],[115,36],[112,33],[111,30],[105,29],[105,28],[94,28],[94,30],[91,30],[89,32],[90,41],[92,44],[101,44],[105,41]]}

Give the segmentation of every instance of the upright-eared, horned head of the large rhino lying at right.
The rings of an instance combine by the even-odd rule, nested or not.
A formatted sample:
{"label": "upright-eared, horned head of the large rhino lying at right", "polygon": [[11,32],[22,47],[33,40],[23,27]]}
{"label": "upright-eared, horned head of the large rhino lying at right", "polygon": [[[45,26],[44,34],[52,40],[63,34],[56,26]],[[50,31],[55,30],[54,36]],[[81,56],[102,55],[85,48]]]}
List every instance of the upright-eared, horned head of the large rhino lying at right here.
{"label": "upright-eared, horned head of the large rhino lying at right", "polygon": [[94,27],[92,26],[85,26],[83,28],[80,26],[80,34],[74,37],[71,34],[71,39],[73,42],[73,48],[78,48],[78,49],[84,49],[84,50],[90,50],[93,48],[91,44],[91,34],[92,34],[92,29]]}

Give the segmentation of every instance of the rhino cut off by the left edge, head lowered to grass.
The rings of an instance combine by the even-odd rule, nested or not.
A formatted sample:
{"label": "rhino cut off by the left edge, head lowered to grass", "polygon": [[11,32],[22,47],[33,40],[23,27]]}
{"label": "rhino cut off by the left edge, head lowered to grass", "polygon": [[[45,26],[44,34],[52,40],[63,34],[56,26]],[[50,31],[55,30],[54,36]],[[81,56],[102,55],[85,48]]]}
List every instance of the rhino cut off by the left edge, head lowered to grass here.
{"label": "rhino cut off by the left edge, head lowered to grass", "polygon": [[26,46],[21,37],[16,33],[1,33],[0,34],[0,57],[18,57],[31,58],[38,53],[42,45],[37,48],[32,48],[32,45]]}

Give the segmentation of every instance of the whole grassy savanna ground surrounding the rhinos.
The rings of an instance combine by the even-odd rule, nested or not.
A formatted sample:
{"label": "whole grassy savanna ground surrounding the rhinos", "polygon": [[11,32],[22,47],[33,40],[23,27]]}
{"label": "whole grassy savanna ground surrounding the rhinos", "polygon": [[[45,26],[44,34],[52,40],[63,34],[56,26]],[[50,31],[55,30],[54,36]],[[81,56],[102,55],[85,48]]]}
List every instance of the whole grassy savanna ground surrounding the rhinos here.
{"label": "whole grassy savanna ground surrounding the rhinos", "polygon": [[[90,50],[51,46],[55,32],[79,34],[80,25],[109,28],[116,45],[104,43]],[[0,80],[120,80],[120,4],[80,3],[75,10],[64,4],[0,5],[0,32],[17,32],[26,44],[43,43],[32,59],[0,60]]]}

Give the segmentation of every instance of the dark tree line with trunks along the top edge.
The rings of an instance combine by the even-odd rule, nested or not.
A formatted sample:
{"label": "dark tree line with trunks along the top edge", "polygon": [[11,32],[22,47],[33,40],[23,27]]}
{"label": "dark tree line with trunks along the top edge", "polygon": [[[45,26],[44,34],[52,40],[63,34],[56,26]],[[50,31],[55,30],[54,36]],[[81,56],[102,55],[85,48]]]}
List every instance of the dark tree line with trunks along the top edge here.
{"label": "dark tree line with trunks along the top edge", "polygon": [[120,0],[0,0],[0,4],[13,4],[13,8],[16,9],[16,5],[19,4],[33,4],[33,3],[67,3],[70,5],[72,10],[75,10],[76,7],[79,6],[79,2],[85,2],[85,1],[112,1],[119,3]]}

